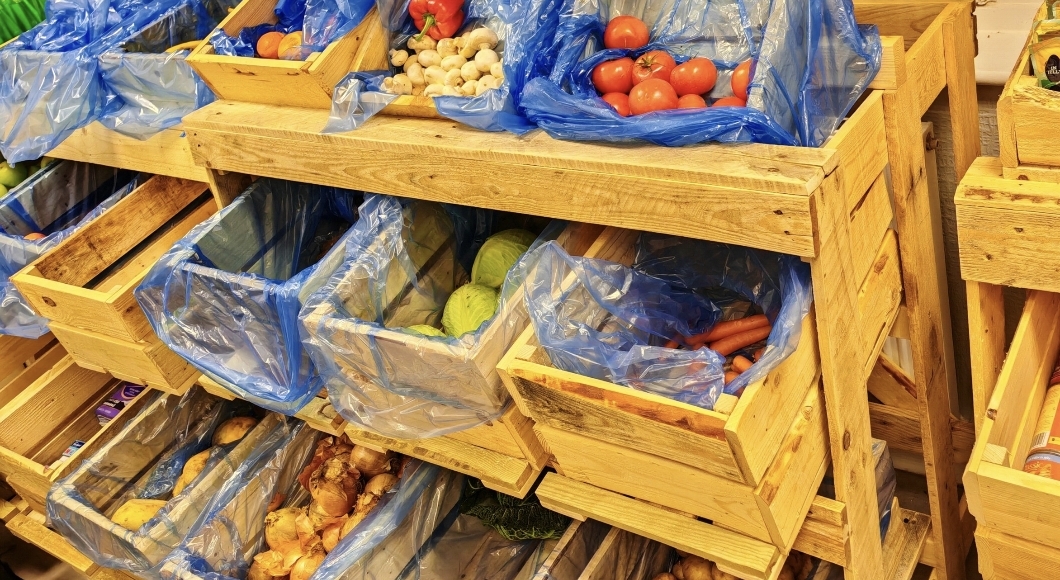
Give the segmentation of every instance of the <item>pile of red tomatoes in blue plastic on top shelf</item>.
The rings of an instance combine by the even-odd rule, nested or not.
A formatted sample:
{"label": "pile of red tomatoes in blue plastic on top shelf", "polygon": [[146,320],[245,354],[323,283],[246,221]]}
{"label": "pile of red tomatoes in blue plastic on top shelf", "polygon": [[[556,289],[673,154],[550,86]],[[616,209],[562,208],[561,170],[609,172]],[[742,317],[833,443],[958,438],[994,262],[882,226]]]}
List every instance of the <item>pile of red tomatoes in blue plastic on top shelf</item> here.
{"label": "pile of red tomatoes in blue plastic on top shelf", "polygon": [[[648,46],[648,27],[633,16],[616,16],[603,34],[608,49],[637,50]],[[754,63],[744,60],[732,72],[732,94],[716,100],[712,107],[743,107],[747,103]],[[629,56],[600,63],[593,69],[593,86],[622,117],[655,110],[700,109],[718,82],[718,68],[709,58],[696,56],[678,65],[664,50],[652,50],[636,60]]]}

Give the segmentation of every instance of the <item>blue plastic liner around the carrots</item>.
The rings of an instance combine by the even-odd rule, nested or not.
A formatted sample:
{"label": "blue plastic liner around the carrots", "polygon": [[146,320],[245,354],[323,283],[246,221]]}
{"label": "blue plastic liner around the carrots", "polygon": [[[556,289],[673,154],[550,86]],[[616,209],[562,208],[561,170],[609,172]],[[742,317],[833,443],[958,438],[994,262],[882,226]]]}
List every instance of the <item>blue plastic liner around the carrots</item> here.
{"label": "blue plastic liner around the carrots", "polygon": [[[632,267],[555,244],[526,264],[526,306],[552,365],[708,409],[795,351],[812,302],[809,267],[797,258],[661,234],[640,234]],[[714,351],[665,347],[744,317],[748,302],[773,331],[762,357],[728,385]]]}

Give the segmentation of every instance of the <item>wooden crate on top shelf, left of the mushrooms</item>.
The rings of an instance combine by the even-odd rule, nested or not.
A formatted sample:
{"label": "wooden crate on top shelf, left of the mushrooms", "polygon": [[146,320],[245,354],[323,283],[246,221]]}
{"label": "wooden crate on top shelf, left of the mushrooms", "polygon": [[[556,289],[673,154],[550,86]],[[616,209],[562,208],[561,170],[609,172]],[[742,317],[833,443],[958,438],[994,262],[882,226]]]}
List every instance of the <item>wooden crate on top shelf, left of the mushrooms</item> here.
{"label": "wooden crate on top shelf, left of the mushrooms", "polygon": [[[275,23],[275,7],[276,0],[244,0],[219,28],[236,36],[246,27]],[[356,29],[304,61],[225,56],[202,42],[188,63],[219,99],[330,110],[332,91],[347,73],[387,67],[387,35],[372,10]]]}

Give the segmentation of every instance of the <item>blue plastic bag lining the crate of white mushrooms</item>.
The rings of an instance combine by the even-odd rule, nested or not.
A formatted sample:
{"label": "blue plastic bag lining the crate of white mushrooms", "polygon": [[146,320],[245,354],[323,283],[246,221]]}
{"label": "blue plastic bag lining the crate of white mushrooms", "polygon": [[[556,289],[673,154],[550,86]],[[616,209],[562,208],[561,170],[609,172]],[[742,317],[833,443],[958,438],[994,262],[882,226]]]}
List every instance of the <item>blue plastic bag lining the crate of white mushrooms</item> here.
{"label": "blue plastic bag lining the crate of white mushrooms", "polygon": [[[478,96],[436,96],[439,115],[482,130],[524,135],[534,129],[535,125],[522,112],[519,100],[523,87],[531,78],[547,75],[554,65],[553,43],[562,4],[562,0],[464,2],[466,20],[458,35],[480,27],[496,33],[505,78],[500,88]],[[389,48],[406,49],[409,37],[419,32],[408,14],[409,0],[376,0],[376,5],[383,25],[390,32]],[[401,70],[351,73],[340,81],[332,95],[332,113],[323,133],[352,130],[396,99],[382,91],[383,78],[394,72]]]}

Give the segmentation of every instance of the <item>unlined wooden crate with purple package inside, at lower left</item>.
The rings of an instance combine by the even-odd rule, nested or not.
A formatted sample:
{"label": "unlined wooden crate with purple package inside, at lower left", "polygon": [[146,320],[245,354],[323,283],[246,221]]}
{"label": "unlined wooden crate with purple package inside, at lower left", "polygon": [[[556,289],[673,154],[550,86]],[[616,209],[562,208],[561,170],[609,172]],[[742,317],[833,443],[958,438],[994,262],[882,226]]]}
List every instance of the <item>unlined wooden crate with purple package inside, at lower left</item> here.
{"label": "unlined wooden crate with purple package inside, at lower left", "polygon": [[[45,513],[52,484],[110,441],[143,406],[146,397],[101,426],[95,409],[120,386],[109,374],[77,366],[56,344],[0,388],[0,475],[33,509]],[[75,440],[84,446],[52,469]]]}

